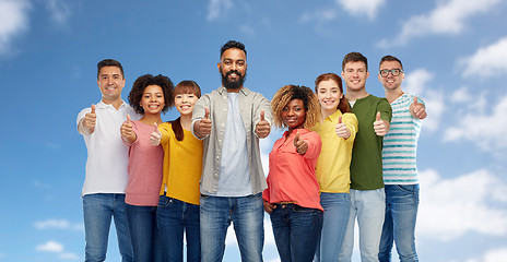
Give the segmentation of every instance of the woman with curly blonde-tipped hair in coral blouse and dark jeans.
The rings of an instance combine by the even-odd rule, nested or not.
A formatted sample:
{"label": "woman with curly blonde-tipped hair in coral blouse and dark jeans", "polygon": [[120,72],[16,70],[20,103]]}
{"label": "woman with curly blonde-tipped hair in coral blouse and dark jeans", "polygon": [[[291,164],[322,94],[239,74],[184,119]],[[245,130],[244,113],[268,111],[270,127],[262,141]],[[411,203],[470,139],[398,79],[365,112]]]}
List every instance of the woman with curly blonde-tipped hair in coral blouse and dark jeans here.
{"label": "woman with curly blonde-tipped hair in coral blouse and dark jeans", "polygon": [[310,262],[322,226],[315,166],[319,134],[308,128],[319,120],[319,103],[306,86],[285,85],[271,100],[274,126],[288,128],[269,155],[268,189],[262,193],[282,262]]}

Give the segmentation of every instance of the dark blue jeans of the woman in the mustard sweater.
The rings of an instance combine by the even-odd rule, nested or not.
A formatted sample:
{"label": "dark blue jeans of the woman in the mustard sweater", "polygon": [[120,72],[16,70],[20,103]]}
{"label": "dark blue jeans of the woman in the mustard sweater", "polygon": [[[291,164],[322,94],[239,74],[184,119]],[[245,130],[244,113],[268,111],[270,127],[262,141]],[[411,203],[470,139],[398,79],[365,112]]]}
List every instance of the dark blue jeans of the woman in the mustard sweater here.
{"label": "dark blue jeans of the woman in the mustard sweater", "polygon": [[184,231],[187,262],[201,261],[199,205],[161,195],[156,211],[164,261],[184,261]]}

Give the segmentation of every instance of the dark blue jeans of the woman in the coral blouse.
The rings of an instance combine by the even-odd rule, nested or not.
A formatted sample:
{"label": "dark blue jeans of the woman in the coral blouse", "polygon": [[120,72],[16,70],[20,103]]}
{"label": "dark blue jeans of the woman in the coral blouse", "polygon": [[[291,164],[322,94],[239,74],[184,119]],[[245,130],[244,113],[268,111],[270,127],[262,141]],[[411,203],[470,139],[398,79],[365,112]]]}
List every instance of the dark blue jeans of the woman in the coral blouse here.
{"label": "dark blue jeans of the woman in the coral blouse", "polygon": [[278,204],[271,212],[274,241],[282,262],[310,262],[322,229],[322,211]]}

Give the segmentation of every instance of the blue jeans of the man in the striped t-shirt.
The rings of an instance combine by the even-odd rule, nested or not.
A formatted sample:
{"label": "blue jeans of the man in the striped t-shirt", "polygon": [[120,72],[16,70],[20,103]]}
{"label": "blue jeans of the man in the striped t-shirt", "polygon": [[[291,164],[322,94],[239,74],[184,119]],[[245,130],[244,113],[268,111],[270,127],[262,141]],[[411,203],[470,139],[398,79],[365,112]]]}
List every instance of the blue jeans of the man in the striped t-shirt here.
{"label": "blue jeans of the man in the striped t-shirt", "polygon": [[378,259],[391,261],[392,242],[402,262],[418,261],[415,251],[415,221],[418,184],[386,184],[386,218]]}

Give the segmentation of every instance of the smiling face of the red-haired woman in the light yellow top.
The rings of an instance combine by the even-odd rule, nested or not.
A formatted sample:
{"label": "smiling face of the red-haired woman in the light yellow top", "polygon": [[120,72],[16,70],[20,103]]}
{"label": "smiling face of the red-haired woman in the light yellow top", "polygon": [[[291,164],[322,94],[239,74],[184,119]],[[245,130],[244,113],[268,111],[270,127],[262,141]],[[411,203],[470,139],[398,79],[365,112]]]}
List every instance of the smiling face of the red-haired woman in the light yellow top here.
{"label": "smiling face of the red-haired woman in the light yellow top", "polygon": [[322,115],[330,116],[337,110],[343,94],[340,91],[338,83],[330,79],[320,81],[317,86],[317,97],[319,98]]}

